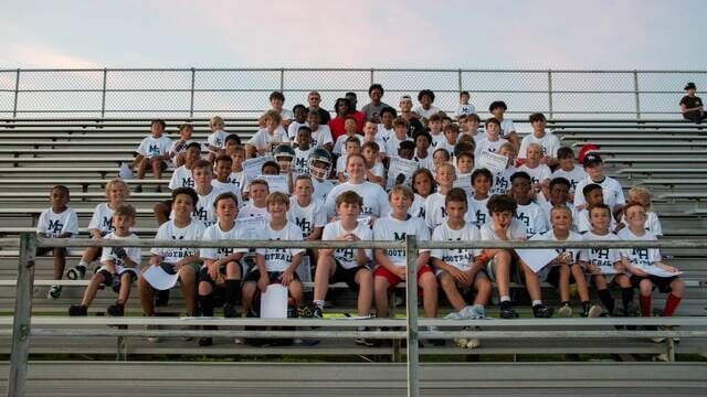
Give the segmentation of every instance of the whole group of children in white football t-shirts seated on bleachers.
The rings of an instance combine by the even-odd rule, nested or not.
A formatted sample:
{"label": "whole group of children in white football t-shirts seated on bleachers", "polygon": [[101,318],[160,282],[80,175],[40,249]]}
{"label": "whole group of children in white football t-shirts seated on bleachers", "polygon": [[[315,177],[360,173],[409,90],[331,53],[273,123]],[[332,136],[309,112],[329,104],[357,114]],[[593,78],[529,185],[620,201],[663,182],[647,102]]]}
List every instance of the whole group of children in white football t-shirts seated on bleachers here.
{"label": "whole group of children in white football t-shirts seated on bleachers", "polygon": [[[371,93],[380,101],[382,87],[372,87]],[[604,175],[598,153],[585,154],[583,167],[576,164],[573,151],[546,131],[541,114],[530,116],[532,133],[519,141],[513,121],[504,117],[503,101],[492,104],[494,117],[482,131],[468,97],[468,93],[461,95],[457,125],[432,106],[434,93],[421,92],[415,120],[429,128],[414,129],[412,135],[411,120],[373,103],[374,117],[362,126],[354,115],[337,115],[345,117],[345,132],[336,141],[331,130],[319,124],[319,111],[307,112],[304,105],[294,112],[283,111],[282,94],[271,96],[273,110],[263,116],[262,128],[245,144],[238,135],[225,132],[220,117],[210,120],[207,142],[191,139],[190,125],[182,126],[180,139],[171,142],[163,136],[165,122],[155,120],[151,135],[137,150],[137,176],[149,169],[160,178],[168,167],[177,167],[169,183],[171,200],[155,206],[160,225],[156,238],[356,242],[415,235],[433,242],[579,242],[650,240],[661,235],[647,190],[633,187],[626,203],[621,185]],[[401,108],[408,99],[401,99]],[[486,151],[505,157],[505,168],[493,173],[477,167],[475,160]],[[261,175],[246,175],[244,161],[266,155],[272,159],[264,159]],[[395,168],[399,174],[388,174],[399,161],[408,170]],[[271,186],[278,176],[285,183]],[[106,196],[88,226],[91,236],[137,238],[130,232],[135,208],[125,203],[128,186],[114,180],[106,186]],[[67,189],[55,186],[52,207],[42,214],[38,234],[76,235],[76,215],[67,202]],[[64,251],[54,249],[55,279],[64,272]],[[163,293],[140,272],[140,250],[107,247],[99,254],[96,248],[86,249],[80,264],[66,272],[71,279],[82,279],[99,257],[83,300],[70,308],[70,314],[86,315],[97,289],[109,285],[118,299],[108,314],[123,315],[130,285],[137,280],[144,313],[154,315],[156,297],[159,301]],[[559,290],[561,316],[572,315],[571,283],[577,286],[583,316],[633,315],[637,311],[634,288],[640,290],[643,315],[651,315],[654,287],[669,293],[663,315],[672,315],[683,296],[677,270],[663,264],[657,249],[566,248],[557,254],[538,270],[514,249],[420,250],[415,269],[425,315],[437,316],[441,289],[453,308],[446,318],[482,319],[493,282],[504,319],[518,315],[511,302],[513,282],[525,286],[537,318],[555,314],[542,301],[542,281]],[[305,258],[314,265],[312,302],[305,301],[297,271]],[[241,316],[239,302],[245,315],[257,315],[257,294],[272,283],[287,287],[302,316],[321,318],[333,282],[346,282],[358,292],[358,315],[368,316],[374,307],[376,315],[384,318],[388,292],[407,277],[404,249],[152,248],[146,269],[157,266],[178,273],[188,315],[212,316],[214,308],[223,307],[226,318]],[[595,287],[601,305],[590,299],[589,283]],[[611,283],[621,289],[621,309],[609,291]],[[50,298],[60,294],[61,287],[50,289]]]}

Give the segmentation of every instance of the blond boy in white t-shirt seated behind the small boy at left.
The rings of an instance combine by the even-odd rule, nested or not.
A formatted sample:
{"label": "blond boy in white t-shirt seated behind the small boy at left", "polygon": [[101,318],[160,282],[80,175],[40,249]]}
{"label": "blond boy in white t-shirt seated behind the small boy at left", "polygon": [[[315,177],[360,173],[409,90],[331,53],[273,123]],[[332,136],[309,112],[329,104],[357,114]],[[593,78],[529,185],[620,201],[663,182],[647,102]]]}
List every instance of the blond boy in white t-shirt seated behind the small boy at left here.
{"label": "blond boy in white t-shirt seated behind the small boy at left", "polygon": [[[125,200],[130,195],[130,187],[120,179],[114,179],[106,184],[107,203],[96,205],[88,223],[88,233],[91,238],[101,239],[110,232],[115,230],[113,225],[114,212],[123,205]],[[88,265],[101,257],[101,247],[88,247],[84,250],[78,265],[66,270],[66,278],[70,280],[83,280],[86,277],[86,268]]]}

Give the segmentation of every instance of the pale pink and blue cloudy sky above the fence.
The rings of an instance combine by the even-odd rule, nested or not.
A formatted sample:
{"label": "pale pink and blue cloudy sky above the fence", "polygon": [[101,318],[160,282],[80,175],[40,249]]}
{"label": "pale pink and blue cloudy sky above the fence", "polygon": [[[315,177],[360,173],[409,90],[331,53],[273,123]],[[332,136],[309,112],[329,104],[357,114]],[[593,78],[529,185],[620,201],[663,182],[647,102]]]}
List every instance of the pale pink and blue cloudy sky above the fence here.
{"label": "pale pink and blue cloudy sky above the fence", "polygon": [[697,0],[7,0],[0,50],[3,67],[705,68],[705,11]]}

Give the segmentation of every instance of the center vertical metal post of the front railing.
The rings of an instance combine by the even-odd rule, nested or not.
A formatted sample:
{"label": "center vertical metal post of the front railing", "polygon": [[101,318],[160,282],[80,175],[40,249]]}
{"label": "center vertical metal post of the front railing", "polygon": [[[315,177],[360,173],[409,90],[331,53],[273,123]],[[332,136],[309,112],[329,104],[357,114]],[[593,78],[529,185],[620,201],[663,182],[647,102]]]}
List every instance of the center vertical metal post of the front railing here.
{"label": "center vertical metal post of the front railing", "polygon": [[405,292],[408,304],[408,397],[420,396],[420,356],[418,346],[418,242],[416,236],[405,237],[405,258],[408,260],[408,277]]}

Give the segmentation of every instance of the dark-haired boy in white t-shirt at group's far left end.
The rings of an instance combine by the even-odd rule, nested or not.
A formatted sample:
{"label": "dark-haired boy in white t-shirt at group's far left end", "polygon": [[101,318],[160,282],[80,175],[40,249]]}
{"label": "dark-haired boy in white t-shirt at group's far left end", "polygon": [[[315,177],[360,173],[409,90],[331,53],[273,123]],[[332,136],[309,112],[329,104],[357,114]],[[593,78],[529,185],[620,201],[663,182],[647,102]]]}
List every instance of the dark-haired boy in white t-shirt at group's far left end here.
{"label": "dark-haired boy in white t-shirt at group's far left end", "polygon": [[[36,223],[36,236],[44,238],[70,238],[78,234],[78,217],[76,212],[68,207],[68,187],[56,185],[50,193],[52,206],[44,210]],[[44,247],[36,248],[36,255],[52,251],[54,255],[54,280],[61,280],[66,266],[66,248]],[[62,294],[62,286],[52,286],[49,289],[48,299],[59,299]]]}

